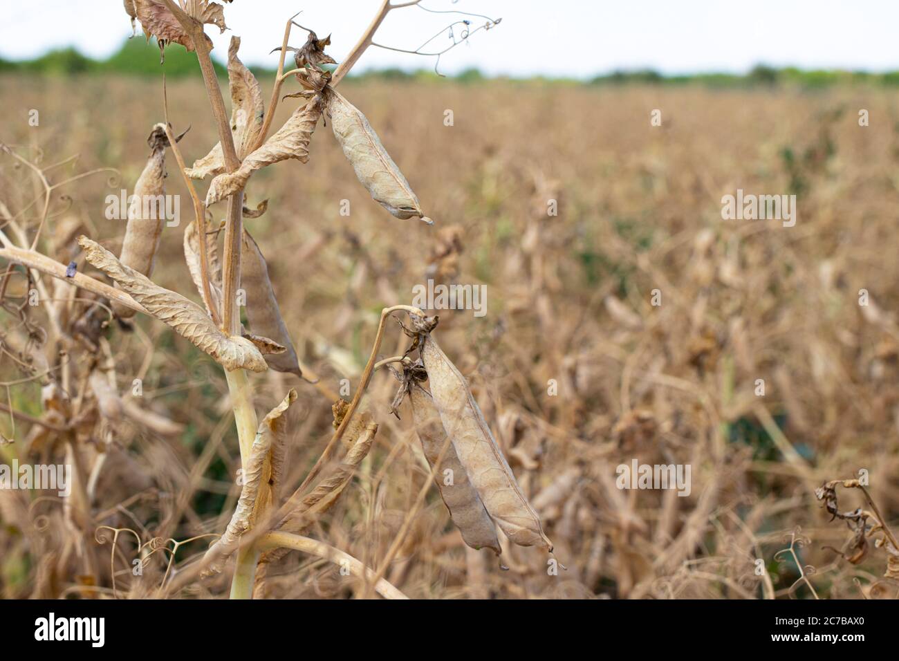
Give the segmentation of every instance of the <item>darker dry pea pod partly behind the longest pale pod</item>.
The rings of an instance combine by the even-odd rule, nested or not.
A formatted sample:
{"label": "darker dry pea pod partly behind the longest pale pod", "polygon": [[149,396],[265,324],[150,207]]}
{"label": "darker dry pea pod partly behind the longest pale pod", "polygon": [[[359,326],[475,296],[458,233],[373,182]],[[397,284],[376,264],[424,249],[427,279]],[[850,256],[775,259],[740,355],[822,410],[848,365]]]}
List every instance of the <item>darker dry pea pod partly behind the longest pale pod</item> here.
{"label": "darker dry pea pod partly behind the longest pale pod", "polygon": [[[412,405],[415,432],[422,442],[424,457],[433,469],[447,441],[440,412],[434,406],[431,395],[415,383],[409,389],[409,403]],[[451,471],[451,480],[450,484],[445,484],[448,470]],[[472,549],[493,549],[499,555],[500,542],[496,539],[494,522],[469,481],[451,442],[443,452],[440,469],[434,474],[434,482],[465,543]]]}

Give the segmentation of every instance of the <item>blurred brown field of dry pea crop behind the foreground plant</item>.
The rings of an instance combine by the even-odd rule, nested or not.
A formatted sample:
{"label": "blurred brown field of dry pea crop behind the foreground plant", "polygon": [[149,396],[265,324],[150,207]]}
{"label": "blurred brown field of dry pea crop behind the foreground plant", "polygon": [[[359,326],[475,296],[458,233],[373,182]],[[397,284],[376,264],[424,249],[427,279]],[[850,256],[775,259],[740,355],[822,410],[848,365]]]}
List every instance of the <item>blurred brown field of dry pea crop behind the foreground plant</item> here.
{"label": "blurred brown field of dry pea crop behind the foreground plant", "polygon": [[[260,82],[268,103],[271,80]],[[554,549],[517,546],[504,528],[498,558],[466,545],[409,402],[391,415],[400,381],[382,367],[316,478],[343,476],[339,497],[310,505],[296,530],[358,565],[348,571],[337,551],[306,541],[260,566],[256,597],[896,595],[895,93],[352,78],[340,90],[434,224],[371,201],[330,120],[307,164],[247,184],[245,205],[268,200],[268,210],[245,227],[307,377],[318,377],[249,374],[260,420],[296,389],[283,418],[282,496],[333,438],[337,399],[357,394],[381,310],[412,304],[429,279],[484,285],[483,316],[425,311],[439,314],[435,336]],[[191,165],[217,140],[199,70],[169,81],[167,97],[174,132],[192,127],[179,143]],[[303,103],[281,103],[273,130]],[[76,238],[120,254],[126,222],[106,218],[106,197],[130,192],[147,161],[147,135],[164,120],[162,81],[5,76],[0,106],[0,140],[21,157],[0,154],[4,232],[19,245],[12,218],[35,236],[39,170],[50,185],[84,174],[51,191],[37,247],[111,284]],[[661,126],[651,125],[655,109]],[[165,168],[181,220],[163,229],[152,279],[200,302],[182,248],[191,197],[171,150]],[[200,198],[208,182],[196,182]],[[737,189],[797,193],[795,226],[723,220],[721,198]],[[213,228],[225,207],[210,208]],[[191,574],[242,493],[224,371],[146,315],[88,318],[93,294],[43,275],[66,312],[54,331],[40,305],[27,305],[25,271],[7,280],[0,458],[69,463],[75,478],[67,498],[0,489],[0,594],[227,596],[234,555],[213,576]],[[383,335],[378,360],[413,343],[392,318]],[[90,361],[105,388],[85,385]],[[52,388],[67,392],[50,397]],[[351,465],[366,434],[370,448]],[[689,466],[689,493],[620,488],[616,469],[633,461]],[[850,478],[861,484],[816,497]],[[314,487],[327,485],[306,493]],[[845,520],[831,521],[828,507]]]}

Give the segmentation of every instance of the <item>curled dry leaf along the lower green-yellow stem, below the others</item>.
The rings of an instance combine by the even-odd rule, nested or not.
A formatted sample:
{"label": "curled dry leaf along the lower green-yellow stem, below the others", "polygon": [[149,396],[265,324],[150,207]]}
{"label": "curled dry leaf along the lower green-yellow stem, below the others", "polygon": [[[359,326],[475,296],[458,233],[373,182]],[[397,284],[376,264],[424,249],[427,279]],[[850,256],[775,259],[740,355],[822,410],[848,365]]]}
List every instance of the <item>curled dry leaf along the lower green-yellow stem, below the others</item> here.
{"label": "curled dry leaf along the lower green-yellow stem, below the others", "polygon": [[[290,389],[281,403],[271,409],[259,425],[250,450],[250,459],[244,467],[244,485],[234,514],[221,539],[206,551],[207,558],[215,558],[205,572],[207,575],[221,571],[227,557],[236,549],[240,536],[251,530],[259,515],[271,505],[269,481],[274,475],[280,477],[280,461],[283,460],[285,421],[282,415],[296,399],[297,391]],[[277,455],[274,461],[272,449]]]}

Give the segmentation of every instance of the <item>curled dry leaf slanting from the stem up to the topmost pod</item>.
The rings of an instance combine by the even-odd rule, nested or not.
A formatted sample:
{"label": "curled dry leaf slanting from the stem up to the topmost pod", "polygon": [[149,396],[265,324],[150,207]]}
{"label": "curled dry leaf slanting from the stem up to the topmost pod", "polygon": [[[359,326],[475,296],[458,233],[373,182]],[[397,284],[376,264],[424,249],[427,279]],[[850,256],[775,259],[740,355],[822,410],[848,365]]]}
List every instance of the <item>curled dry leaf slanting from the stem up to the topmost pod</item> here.
{"label": "curled dry leaf slanting from the stem up to the topmost pod", "polygon": [[300,163],[306,163],[309,160],[309,141],[321,114],[318,98],[310,99],[305,105],[300,106],[277,133],[244,159],[235,172],[219,174],[212,180],[206,193],[206,206],[209,207],[243,189],[250,175],[266,165],[288,158],[296,158]]}

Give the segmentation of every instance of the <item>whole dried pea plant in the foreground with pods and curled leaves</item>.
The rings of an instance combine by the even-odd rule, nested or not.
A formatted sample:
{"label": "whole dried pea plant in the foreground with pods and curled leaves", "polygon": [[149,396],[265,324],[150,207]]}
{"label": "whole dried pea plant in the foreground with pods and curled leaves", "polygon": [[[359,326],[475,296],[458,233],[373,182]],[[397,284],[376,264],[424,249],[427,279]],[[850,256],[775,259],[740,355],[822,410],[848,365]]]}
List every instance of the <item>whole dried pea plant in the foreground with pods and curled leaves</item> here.
{"label": "whole dried pea plant in the foreground with pods and curled leaves", "polygon": [[[78,290],[86,292],[84,295],[77,294],[78,299],[85,299],[86,302],[77,308],[79,315],[75,317],[63,317],[58,314],[60,308],[53,308],[50,319],[52,335],[49,338],[36,338],[37,330],[30,325],[24,308],[17,308],[22,326],[27,330],[25,341],[15,351],[23,364],[26,356],[31,363],[35,360],[34,355],[40,355],[31,351],[35,344],[55,347],[58,355],[40,370],[27,365],[31,378],[43,384],[43,417],[35,419],[23,412],[13,412],[11,406],[6,408],[10,409],[11,415],[31,422],[33,429],[39,433],[58,435],[58,439],[66,444],[67,458],[74,458],[78,445],[89,439],[99,435],[107,440],[94,452],[90,469],[76,467],[78,496],[76,505],[67,508],[66,521],[82,531],[85,538],[93,532],[101,542],[110,541],[106,533],[113,532],[111,594],[118,595],[116,576],[121,573],[115,568],[121,561],[122,553],[117,542],[120,537],[127,537],[124,532],[131,532],[138,539],[134,551],[140,558],[140,567],[150,567],[155,554],[168,554],[165,574],[156,590],[151,590],[147,582],[138,582],[136,585],[141,587],[132,586],[131,595],[174,594],[178,589],[190,586],[200,576],[222,572],[232,556],[236,556],[236,561],[231,596],[248,598],[253,594],[264,594],[266,567],[289,549],[298,549],[348,567],[353,575],[364,581],[366,589],[389,598],[403,597],[385,579],[385,575],[410,531],[415,514],[423,505],[431,480],[437,484],[453,522],[469,547],[491,549],[500,555],[503,547],[496,529],[498,526],[503,536],[515,544],[538,546],[551,552],[552,544],[542,530],[539,517],[518,486],[467,381],[433,338],[437,317],[426,317],[419,308],[396,305],[383,310],[369,362],[352,402],[339,400],[334,403],[334,434],[315,465],[289,496],[285,484],[289,452],[288,412],[298,397],[297,391],[289,389],[280,404],[261,422],[254,406],[254,382],[248,378],[247,372],[274,370],[315,382],[314,375],[304,374],[297,349],[281,316],[263,249],[245,227],[245,218],[258,218],[268,206],[267,201],[255,210],[245,206],[245,191],[254,174],[290,159],[307,164],[319,121],[324,124],[330,121],[334,138],[372,200],[397,219],[421,219],[432,223],[365,115],[335,89],[365,49],[369,46],[380,47],[373,37],[387,13],[406,6],[424,9],[419,1],[390,4],[389,0],[383,0],[369,29],[333,73],[325,68],[325,65],[337,64],[325,52],[330,38],[320,39],[316,32],[303,28],[308,32],[305,44],[300,48],[289,46],[292,28],[302,27],[292,17],[285,26],[280,49],[275,49],[280,50],[280,61],[267,108],[261,85],[238,58],[240,39],[233,37],[227,58],[230,116],[227,115],[209,57],[212,42],[204,31],[206,24],[213,24],[222,32],[227,29],[223,5],[209,0],[179,0],[177,3],[174,0],[124,0],[124,6],[132,25],[135,21],[140,22],[147,39],[155,37],[163,52],[170,44],[180,44],[196,53],[209,96],[212,120],[218,130],[218,143],[207,156],[188,167],[179,147],[184,134],[174,136],[167,102],[164,101],[165,121],[156,124],[148,138],[151,153],[135,185],[136,203],[128,210],[128,223],[119,256],[85,235],[76,239],[87,264],[108,277],[113,286],[77,272],[75,261],[67,268],[41,255],[36,251],[37,237],[29,246],[13,214],[4,212],[6,224],[16,232],[19,245],[5,233],[0,233],[3,241],[0,257],[10,263],[4,277],[4,290],[13,264],[21,264],[25,277],[30,283],[34,281],[37,284],[41,295],[47,300],[52,297],[40,280],[41,273],[74,284]],[[490,29],[497,22],[486,19],[485,24],[477,29]],[[465,40],[470,33],[470,22],[464,20],[462,23],[465,28],[461,40]],[[461,40],[452,33],[451,27],[449,34],[452,44],[456,45]],[[289,52],[295,54],[296,67],[285,73],[284,63]],[[409,52],[436,56],[439,60],[445,49],[434,53],[426,53],[422,49]],[[282,101],[281,87],[289,76],[295,77],[301,89],[286,94],[283,100],[298,98],[301,102],[283,126],[269,136],[275,111]],[[147,196],[164,194],[165,154],[168,149],[172,151],[191,193],[194,218],[184,230],[184,257],[202,305],[151,280],[159,256],[157,252],[164,221],[147,215],[140,201]],[[4,151],[13,154],[8,148]],[[40,169],[33,166],[32,169],[46,184]],[[209,189],[201,198],[191,180],[206,178],[210,178]],[[215,227],[208,219],[209,207],[220,201],[227,203],[223,228]],[[45,219],[46,215],[45,206]],[[220,230],[224,233],[221,255],[217,241]],[[71,234],[69,240],[74,237],[75,234]],[[245,293],[249,328],[241,322],[238,291]],[[102,314],[102,310],[108,312]],[[102,513],[92,506],[103,464],[111,457],[112,430],[116,428],[122,411],[129,412],[138,424],[145,424],[156,431],[162,430],[168,434],[181,431],[178,425],[166,424],[168,421],[165,419],[148,411],[140,411],[132,400],[120,397],[117,392],[115,365],[112,364],[109,348],[113,326],[109,322],[114,316],[120,324],[133,326],[127,320],[138,312],[170,326],[222,367],[236,421],[242,468],[240,496],[234,514],[224,532],[202,557],[186,567],[178,567],[177,571],[173,571],[175,554],[182,544],[192,540],[166,540],[165,535],[161,535],[145,542],[138,532],[129,528],[97,525],[103,520]],[[404,356],[377,362],[387,320],[395,312],[404,312],[409,316],[412,329],[406,329],[406,333],[414,338],[413,343]],[[76,346],[71,341],[73,336],[85,339]],[[4,338],[4,348],[11,342]],[[63,348],[67,350],[68,360],[60,358]],[[8,349],[6,351],[9,353]],[[411,358],[414,352],[418,353],[417,360]],[[391,362],[402,363],[402,372],[396,371]],[[340,549],[310,539],[303,533],[310,531],[321,515],[334,505],[350,485],[356,469],[369,455],[378,433],[378,424],[369,415],[360,412],[360,401],[376,368],[385,365],[390,366],[402,382],[394,401],[394,410],[406,397],[410,401],[414,426],[431,468],[431,477],[414,501],[385,557],[380,559],[378,567],[369,567]],[[424,389],[425,381],[430,391]],[[85,386],[84,390],[79,390],[76,385],[79,382]],[[325,392],[327,389],[322,390]],[[75,401],[69,400],[68,393],[72,392],[77,393]],[[33,445],[34,438],[31,442]],[[332,456],[339,447],[344,449],[343,457],[339,463],[334,463]],[[163,531],[171,530],[177,523],[176,515],[168,518],[171,520],[161,526]],[[174,544],[172,548],[170,543]],[[90,562],[97,564],[100,559],[92,558]],[[96,567],[85,567],[84,573],[95,576],[98,572]]]}

